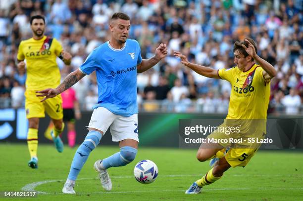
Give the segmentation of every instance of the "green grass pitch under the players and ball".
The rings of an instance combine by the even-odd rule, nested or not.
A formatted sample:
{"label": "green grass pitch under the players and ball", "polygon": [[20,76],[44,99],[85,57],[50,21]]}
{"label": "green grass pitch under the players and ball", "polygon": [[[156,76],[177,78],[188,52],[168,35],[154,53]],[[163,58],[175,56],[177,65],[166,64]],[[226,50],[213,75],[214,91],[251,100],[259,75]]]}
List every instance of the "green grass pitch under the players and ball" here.
{"label": "green grass pitch under the players and ball", "polygon": [[[29,153],[24,144],[0,144],[0,192],[35,189],[37,198],[0,200],[30,201],[299,201],[303,198],[303,152],[258,151],[245,167],[230,168],[217,182],[206,186],[198,195],[186,195],[185,190],[202,177],[210,167],[208,162],[196,160],[197,150],[139,148],[131,164],[110,168],[113,183],[105,192],[93,170],[98,159],[115,152],[117,147],[99,145],[84,165],[76,182],[76,195],[61,193],[76,148],[65,146],[59,154],[50,145],[39,145],[39,168],[27,166]],[[137,182],[134,165],[141,160],[154,161],[159,168],[158,178],[149,185]]]}

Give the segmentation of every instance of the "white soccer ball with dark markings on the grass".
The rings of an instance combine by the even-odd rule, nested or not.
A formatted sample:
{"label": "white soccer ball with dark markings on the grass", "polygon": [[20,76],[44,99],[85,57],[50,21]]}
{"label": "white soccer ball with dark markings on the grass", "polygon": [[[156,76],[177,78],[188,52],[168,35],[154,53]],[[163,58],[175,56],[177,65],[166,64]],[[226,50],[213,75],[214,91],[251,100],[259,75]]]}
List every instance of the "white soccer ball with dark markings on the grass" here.
{"label": "white soccer ball with dark markings on the grass", "polygon": [[158,176],[157,165],[150,160],[143,160],[136,164],[134,175],[138,182],[142,184],[152,183]]}

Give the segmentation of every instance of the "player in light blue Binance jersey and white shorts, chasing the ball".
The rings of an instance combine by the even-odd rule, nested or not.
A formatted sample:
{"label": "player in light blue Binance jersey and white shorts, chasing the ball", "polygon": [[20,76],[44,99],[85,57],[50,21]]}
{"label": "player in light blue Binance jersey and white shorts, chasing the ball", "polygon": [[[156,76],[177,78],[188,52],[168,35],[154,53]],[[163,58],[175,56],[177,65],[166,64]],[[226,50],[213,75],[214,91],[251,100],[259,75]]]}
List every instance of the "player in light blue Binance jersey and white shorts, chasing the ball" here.
{"label": "player in light blue Binance jersey and white shorts, chasing the ball", "polygon": [[37,96],[45,96],[44,101],[96,71],[98,103],[88,125],[89,132],[75,153],[63,193],[75,193],[74,185],[80,170],[108,128],[112,140],[119,142],[120,152],[95,162],[102,187],[106,191],[112,188],[106,169],[124,166],[135,159],[139,143],[137,73],[149,70],[167,54],[166,44],[161,43],[152,58],[142,59],[139,43],[127,39],[130,18],[124,13],[114,13],[109,28],[111,39],[91,52],[79,69],[70,73],[57,88],[37,91]]}

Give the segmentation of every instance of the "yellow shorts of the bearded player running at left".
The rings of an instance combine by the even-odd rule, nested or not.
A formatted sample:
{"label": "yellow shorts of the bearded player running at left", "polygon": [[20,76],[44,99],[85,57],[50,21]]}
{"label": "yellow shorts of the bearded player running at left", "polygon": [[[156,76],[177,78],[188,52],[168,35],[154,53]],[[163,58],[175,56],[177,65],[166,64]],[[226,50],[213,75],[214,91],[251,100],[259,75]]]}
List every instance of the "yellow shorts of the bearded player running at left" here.
{"label": "yellow shorts of the bearded player running at left", "polygon": [[37,97],[35,91],[25,91],[26,118],[44,118],[45,112],[51,119],[60,120],[63,118],[61,95],[40,102],[44,97]]}

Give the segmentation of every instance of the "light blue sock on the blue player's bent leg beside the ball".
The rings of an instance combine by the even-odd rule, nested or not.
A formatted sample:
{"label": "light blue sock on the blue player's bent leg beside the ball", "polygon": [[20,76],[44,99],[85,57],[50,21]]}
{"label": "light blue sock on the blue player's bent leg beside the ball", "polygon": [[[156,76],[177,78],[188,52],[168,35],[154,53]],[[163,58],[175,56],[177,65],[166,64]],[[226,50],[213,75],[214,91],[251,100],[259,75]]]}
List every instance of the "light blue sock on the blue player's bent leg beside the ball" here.
{"label": "light blue sock on the blue player's bent leg beside the ball", "polygon": [[133,147],[121,147],[120,152],[111,155],[102,160],[102,166],[107,169],[109,167],[124,166],[131,161],[134,161],[138,150]]}

